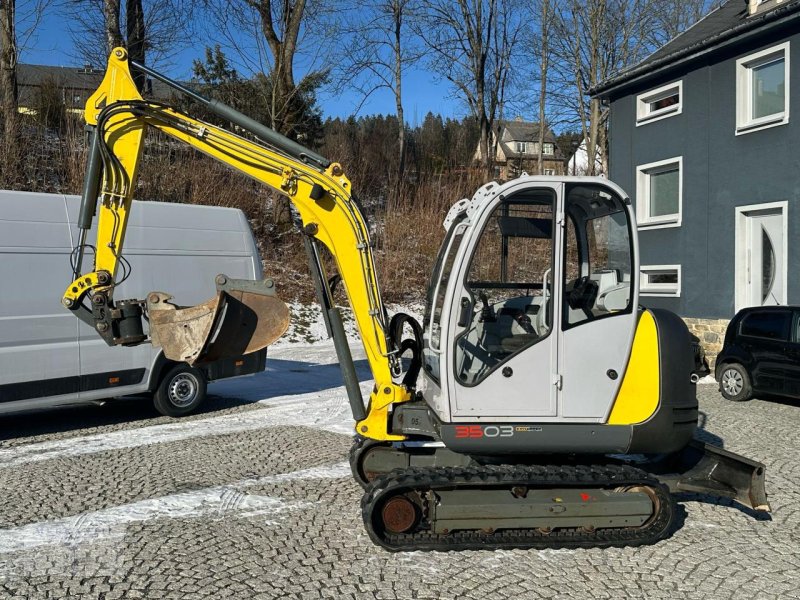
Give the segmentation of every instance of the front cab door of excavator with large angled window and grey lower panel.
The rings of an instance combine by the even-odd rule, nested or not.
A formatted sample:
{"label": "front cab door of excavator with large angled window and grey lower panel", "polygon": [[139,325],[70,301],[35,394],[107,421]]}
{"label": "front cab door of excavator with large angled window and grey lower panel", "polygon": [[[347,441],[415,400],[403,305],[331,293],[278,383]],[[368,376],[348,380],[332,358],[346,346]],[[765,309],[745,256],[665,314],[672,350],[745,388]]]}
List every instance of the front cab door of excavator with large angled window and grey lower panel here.
{"label": "front cab door of excavator with large angled window and grey lower panel", "polygon": [[553,418],[561,185],[506,188],[479,214],[451,300],[453,417]]}

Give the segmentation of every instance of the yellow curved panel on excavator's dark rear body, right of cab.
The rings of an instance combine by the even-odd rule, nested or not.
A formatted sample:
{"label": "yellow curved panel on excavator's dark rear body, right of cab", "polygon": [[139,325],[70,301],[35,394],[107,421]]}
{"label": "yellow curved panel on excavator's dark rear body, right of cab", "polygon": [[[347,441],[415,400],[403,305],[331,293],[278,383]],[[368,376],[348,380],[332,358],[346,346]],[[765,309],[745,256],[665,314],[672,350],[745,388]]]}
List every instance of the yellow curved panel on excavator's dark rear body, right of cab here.
{"label": "yellow curved panel on excavator's dark rear body, right of cab", "polygon": [[632,425],[649,419],[658,410],[660,381],[658,329],[653,315],[644,311],[608,424]]}

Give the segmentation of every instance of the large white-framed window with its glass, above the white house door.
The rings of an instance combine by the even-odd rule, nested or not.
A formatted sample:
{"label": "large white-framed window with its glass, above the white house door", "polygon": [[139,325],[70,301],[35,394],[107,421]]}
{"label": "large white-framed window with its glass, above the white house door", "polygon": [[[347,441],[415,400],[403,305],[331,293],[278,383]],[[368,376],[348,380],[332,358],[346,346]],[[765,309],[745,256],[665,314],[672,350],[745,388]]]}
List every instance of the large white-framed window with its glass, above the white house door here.
{"label": "large white-framed window with its glass, above the white house door", "polygon": [[736,133],[789,122],[789,42],[736,61]]}

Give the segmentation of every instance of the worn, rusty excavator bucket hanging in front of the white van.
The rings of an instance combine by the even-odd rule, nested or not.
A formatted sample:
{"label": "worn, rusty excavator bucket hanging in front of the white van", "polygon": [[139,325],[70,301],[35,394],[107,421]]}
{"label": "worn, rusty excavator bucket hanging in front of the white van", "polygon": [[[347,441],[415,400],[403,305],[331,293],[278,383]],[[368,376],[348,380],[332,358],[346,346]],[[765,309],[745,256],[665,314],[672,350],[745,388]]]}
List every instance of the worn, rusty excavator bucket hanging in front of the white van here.
{"label": "worn, rusty excavator bucket hanging in front of the white van", "polygon": [[190,365],[256,352],[289,327],[289,307],[272,280],[217,275],[217,296],[196,306],[178,306],[163,292],[147,296],[150,339],[164,356]]}

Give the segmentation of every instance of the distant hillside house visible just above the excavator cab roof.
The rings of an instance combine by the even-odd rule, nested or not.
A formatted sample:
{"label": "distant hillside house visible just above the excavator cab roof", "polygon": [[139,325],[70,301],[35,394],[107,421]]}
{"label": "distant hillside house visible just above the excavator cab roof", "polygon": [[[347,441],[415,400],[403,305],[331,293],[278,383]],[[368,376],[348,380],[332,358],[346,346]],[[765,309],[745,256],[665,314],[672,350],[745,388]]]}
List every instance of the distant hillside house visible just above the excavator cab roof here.
{"label": "distant hillside house visible just above the excavator cab roof", "polygon": [[[537,173],[539,159],[539,124],[528,123],[521,118],[514,121],[499,121],[492,132],[490,144],[495,148],[495,176],[512,179],[523,171]],[[556,136],[548,127],[542,145],[544,158],[543,175],[563,175],[565,158],[556,144]],[[481,149],[475,152],[475,160],[481,159]]]}

